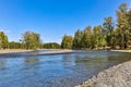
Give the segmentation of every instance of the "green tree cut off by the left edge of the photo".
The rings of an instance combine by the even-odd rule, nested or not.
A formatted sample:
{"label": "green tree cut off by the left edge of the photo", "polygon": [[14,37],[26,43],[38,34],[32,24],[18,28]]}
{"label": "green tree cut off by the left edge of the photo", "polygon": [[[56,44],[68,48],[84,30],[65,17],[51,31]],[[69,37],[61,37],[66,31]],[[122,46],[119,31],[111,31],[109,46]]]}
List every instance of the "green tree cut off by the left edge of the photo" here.
{"label": "green tree cut off by the left edge of the photo", "polygon": [[3,32],[0,32],[0,47],[7,49],[8,42],[8,36]]}

